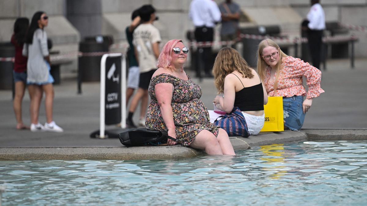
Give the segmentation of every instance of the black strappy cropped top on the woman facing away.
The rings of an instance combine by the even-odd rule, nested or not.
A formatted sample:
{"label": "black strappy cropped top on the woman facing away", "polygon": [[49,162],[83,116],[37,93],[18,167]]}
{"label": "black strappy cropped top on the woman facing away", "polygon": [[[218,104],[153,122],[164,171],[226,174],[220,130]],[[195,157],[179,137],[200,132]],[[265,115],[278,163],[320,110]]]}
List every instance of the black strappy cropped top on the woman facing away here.
{"label": "black strappy cropped top on the woman facing away", "polygon": [[[236,74],[234,75],[241,81],[241,79]],[[262,89],[261,78],[260,84],[251,87],[243,86],[243,89],[236,92],[234,106],[239,107],[241,111],[264,110],[264,90]]]}

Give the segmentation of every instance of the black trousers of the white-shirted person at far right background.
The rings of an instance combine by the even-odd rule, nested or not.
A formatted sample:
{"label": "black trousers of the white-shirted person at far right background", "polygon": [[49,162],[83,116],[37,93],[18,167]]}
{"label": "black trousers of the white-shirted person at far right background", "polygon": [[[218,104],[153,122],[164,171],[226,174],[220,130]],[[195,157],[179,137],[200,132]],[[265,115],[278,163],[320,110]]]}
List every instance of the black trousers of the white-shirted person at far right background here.
{"label": "black trousers of the white-shirted person at far right background", "polygon": [[308,46],[310,48],[312,66],[316,67],[317,69],[320,69],[322,34],[323,30],[308,31]]}

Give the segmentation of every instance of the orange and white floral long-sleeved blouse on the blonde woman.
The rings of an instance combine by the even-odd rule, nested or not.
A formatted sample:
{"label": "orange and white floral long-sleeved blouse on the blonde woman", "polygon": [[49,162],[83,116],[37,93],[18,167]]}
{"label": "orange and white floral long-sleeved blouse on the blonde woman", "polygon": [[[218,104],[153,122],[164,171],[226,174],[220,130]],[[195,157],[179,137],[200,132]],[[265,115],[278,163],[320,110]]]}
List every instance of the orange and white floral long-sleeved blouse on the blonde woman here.
{"label": "orange and white floral long-sleeved blouse on the blonde woman", "polygon": [[[271,67],[266,67],[265,88],[268,96],[274,96],[274,81],[276,74],[270,79]],[[308,92],[303,86],[302,76],[306,77]],[[306,96],[307,99],[314,98],[325,92],[320,87],[321,71],[301,59],[287,56],[282,59],[281,73],[277,86],[276,96]]]}

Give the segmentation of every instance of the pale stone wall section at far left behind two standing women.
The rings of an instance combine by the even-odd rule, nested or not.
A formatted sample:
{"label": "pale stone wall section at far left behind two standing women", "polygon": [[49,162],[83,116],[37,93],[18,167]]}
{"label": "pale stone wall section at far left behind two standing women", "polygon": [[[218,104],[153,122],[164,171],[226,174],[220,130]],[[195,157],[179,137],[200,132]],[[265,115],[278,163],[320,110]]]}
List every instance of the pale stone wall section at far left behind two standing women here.
{"label": "pale stone wall section at far left behind two standing women", "polygon": [[[37,11],[44,11],[50,17],[45,27],[51,38],[51,51],[76,52],[79,49],[79,31],[65,17],[65,0],[1,0],[0,1],[0,42],[10,41],[15,19],[27,17],[31,21]],[[61,66],[61,74],[75,73],[77,59],[72,64]]]}

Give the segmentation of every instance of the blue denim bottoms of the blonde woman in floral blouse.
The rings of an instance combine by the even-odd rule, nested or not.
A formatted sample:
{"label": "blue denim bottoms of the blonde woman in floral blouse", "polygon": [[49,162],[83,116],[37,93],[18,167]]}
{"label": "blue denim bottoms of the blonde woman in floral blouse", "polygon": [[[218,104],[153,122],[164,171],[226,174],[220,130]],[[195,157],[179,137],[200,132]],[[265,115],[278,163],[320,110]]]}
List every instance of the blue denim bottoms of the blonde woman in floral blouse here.
{"label": "blue denim bottoms of the blonde woman in floral blouse", "polygon": [[291,130],[301,129],[305,120],[302,109],[303,96],[283,97],[283,118],[284,123]]}

